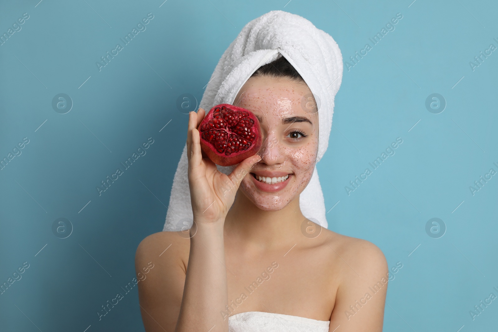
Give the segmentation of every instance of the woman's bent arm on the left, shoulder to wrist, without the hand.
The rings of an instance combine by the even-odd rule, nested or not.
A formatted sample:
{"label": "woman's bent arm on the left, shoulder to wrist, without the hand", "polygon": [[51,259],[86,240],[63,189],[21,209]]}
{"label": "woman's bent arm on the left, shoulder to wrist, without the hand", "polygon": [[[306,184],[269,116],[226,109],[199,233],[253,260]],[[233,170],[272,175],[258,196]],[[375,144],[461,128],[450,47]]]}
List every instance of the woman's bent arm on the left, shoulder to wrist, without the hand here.
{"label": "woman's bent arm on the left, shoulder to wrist, without the hand", "polygon": [[138,282],[145,331],[228,331],[220,314],[228,301],[223,222],[198,222],[191,239],[176,232],[147,236],[136,250],[137,275],[148,262],[154,268]]}

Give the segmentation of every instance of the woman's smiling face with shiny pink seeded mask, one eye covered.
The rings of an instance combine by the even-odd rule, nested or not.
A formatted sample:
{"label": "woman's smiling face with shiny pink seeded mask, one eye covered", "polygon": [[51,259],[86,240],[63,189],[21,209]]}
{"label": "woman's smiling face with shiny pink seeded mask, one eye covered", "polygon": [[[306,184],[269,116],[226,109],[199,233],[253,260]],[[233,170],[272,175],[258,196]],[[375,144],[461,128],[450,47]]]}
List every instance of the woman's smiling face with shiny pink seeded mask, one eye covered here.
{"label": "woman's smiling face with shiny pink seeded mask, one eye covered", "polygon": [[[313,175],[318,111],[311,96],[304,83],[259,76],[250,78],[235,99],[234,105],[252,111],[261,125],[263,143],[258,154],[262,159],[240,186],[261,210],[284,208]],[[262,177],[265,181],[259,180]]]}

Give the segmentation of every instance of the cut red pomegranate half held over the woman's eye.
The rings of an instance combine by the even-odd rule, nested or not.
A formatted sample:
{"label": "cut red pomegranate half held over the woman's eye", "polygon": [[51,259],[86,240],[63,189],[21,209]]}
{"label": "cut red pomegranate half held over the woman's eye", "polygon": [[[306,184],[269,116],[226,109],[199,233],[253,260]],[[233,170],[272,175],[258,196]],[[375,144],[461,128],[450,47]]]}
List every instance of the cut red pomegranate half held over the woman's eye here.
{"label": "cut red pomegranate half held over the woman's eye", "polygon": [[257,153],[261,128],[249,110],[230,104],[213,107],[198,127],[201,148],[215,164],[232,166]]}

